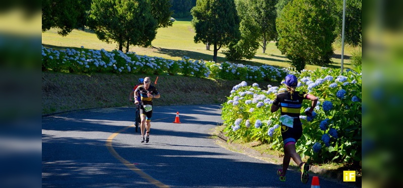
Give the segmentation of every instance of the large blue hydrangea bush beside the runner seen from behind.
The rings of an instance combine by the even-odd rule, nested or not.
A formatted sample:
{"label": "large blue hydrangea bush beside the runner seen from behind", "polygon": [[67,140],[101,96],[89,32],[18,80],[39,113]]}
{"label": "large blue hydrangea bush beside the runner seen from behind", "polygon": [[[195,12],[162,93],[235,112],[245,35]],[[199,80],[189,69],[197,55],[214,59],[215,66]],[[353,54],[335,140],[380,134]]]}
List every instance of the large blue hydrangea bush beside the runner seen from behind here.
{"label": "large blue hydrangea bush beside the runner seen from behind", "polygon": [[[303,136],[296,147],[309,162],[321,163],[361,161],[361,66],[348,69],[320,68],[300,73],[288,68],[287,73],[298,77],[297,91],[306,91],[319,98],[312,117],[305,111],[311,101],[304,100],[301,108]],[[235,85],[224,104],[222,118],[225,132],[232,139],[245,142],[269,143],[275,150],[283,150],[280,110],[271,113],[273,100],[280,87],[267,85],[261,89],[257,83],[248,86],[245,81]]]}

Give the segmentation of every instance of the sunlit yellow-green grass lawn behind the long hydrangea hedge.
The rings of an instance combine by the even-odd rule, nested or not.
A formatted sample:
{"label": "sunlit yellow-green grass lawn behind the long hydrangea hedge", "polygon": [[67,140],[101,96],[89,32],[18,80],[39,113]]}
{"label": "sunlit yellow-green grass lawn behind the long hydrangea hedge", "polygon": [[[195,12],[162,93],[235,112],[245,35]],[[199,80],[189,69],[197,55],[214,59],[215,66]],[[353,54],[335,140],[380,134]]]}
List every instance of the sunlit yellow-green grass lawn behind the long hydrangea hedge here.
{"label": "sunlit yellow-green grass lawn behind the long hydrangea hedge", "polygon": [[[202,43],[194,43],[194,29],[191,26],[189,19],[178,19],[173,23],[172,27],[158,29],[157,36],[152,42],[152,47],[143,48],[137,46],[130,46],[129,51],[136,52],[139,55],[157,56],[165,59],[179,60],[183,56],[190,57],[191,59],[203,59],[206,61],[213,60],[213,50],[206,50],[206,46]],[[106,43],[100,41],[97,36],[91,31],[73,30],[68,36],[62,37],[57,34],[56,29],[50,29],[42,33],[42,45],[54,49],[61,48],[80,48],[84,46],[87,49],[105,49],[111,51],[117,49],[116,43]],[[333,63],[329,65],[332,68],[340,68],[341,66],[341,44],[335,42],[333,44],[334,55],[332,58]],[[213,49],[213,46],[211,46]],[[123,47],[123,50],[125,48]],[[221,48],[218,51],[218,62],[225,62],[227,59]],[[345,46],[344,67],[350,68],[350,56],[355,50],[354,47]],[[255,57],[251,60],[238,61],[234,63],[261,65],[268,64],[276,67],[288,67],[288,59],[281,54],[277,49],[275,42],[271,42],[266,47],[266,53],[262,53],[261,47],[257,50]],[[305,69],[314,70],[318,68],[315,65],[306,65]]]}

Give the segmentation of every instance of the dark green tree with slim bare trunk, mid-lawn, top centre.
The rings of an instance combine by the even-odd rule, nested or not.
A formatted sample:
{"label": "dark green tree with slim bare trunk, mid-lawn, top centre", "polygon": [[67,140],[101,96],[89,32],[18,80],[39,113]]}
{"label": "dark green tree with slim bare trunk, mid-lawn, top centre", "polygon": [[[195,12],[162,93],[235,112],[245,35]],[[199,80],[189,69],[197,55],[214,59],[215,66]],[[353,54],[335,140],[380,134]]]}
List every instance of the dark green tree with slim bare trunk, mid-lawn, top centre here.
{"label": "dark green tree with slim bare trunk, mid-lawn, top centre", "polygon": [[233,0],[199,0],[191,10],[194,42],[214,46],[213,61],[217,52],[234,40],[239,40],[239,17]]}

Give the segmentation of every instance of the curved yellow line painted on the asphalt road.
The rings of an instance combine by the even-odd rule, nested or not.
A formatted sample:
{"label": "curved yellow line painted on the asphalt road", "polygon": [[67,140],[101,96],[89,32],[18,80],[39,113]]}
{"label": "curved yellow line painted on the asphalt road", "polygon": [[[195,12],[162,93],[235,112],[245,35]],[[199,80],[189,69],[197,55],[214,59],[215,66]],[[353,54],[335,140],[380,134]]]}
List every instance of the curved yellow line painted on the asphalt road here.
{"label": "curved yellow line painted on the asphalt road", "polygon": [[112,140],[113,138],[115,138],[115,136],[117,136],[119,133],[127,130],[130,127],[134,127],[135,125],[131,125],[128,127],[125,127],[124,129],[121,129],[115,133],[113,133],[112,135],[109,136],[109,138],[106,140],[106,148],[108,148],[109,152],[112,154],[113,157],[115,157],[116,159],[118,159],[121,163],[123,163],[125,166],[127,166],[130,170],[136,172],[137,174],[139,174],[141,177],[143,177],[144,179],[148,180],[150,183],[153,183],[154,185],[158,186],[158,187],[169,187],[168,185],[158,181],[157,179],[154,179],[153,177],[151,177],[149,174],[145,173],[144,171],[142,171],[141,169],[137,168],[136,165],[130,163],[129,161],[127,161],[126,159],[124,159],[123,157],[121,157],[116,151],[115,149],[113,149],[112,146]]}

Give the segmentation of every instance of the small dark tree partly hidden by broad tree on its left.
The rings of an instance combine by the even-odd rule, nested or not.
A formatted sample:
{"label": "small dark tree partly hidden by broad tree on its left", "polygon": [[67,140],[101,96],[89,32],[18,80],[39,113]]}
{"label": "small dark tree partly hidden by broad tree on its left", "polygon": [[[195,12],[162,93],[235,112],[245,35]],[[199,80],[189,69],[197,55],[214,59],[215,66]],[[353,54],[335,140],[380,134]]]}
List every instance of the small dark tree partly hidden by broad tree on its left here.
{"label": "small dark tree partly hidden by broad tree on its left", "polygon": [[158,28],[166,28],[172,26],[172,11],[170,0],[150,0],[151,14],[157,20]]}

